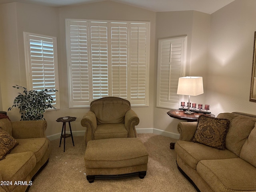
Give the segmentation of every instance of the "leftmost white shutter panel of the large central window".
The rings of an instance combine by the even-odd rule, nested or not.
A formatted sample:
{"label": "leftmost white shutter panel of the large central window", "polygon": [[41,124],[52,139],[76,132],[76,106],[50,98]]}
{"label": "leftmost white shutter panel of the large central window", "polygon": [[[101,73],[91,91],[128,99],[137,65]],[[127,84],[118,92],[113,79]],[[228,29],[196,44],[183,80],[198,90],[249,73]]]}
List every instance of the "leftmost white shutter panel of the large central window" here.
{"label": "leftmost white shutter panel of the large central window", "polygon": [[68,22],[68,77],[69,97],[71,106],[84,106],[89,104],[89,69],[88,69],[88,23]]}

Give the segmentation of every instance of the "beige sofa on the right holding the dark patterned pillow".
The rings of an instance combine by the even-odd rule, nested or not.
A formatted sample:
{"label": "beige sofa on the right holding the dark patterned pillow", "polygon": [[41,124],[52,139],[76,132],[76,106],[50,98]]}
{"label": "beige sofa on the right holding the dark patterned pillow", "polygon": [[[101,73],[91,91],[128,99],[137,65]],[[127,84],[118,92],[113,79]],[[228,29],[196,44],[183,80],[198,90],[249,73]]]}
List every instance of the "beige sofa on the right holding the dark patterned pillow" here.
{"label": "beige sofa on the right holding the dark patterned pillow", "polygon": [[256,115],[232,112],[217,118],[230,120],[224,150],[191,142],[197,122],[178,124],[179,170],[201,192],[256,192]]}

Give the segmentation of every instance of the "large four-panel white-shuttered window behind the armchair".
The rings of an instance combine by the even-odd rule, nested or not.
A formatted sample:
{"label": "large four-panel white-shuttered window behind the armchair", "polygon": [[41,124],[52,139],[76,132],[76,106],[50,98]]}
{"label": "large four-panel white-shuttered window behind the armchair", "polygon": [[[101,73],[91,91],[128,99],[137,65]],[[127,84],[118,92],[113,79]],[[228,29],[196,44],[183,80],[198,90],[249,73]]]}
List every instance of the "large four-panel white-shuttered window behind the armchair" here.
{"label": "large four-panel white-shuttered window behind the armchair", "polygon": [[148,106],[149,22],[66,20],[70,107],[116,96]]}

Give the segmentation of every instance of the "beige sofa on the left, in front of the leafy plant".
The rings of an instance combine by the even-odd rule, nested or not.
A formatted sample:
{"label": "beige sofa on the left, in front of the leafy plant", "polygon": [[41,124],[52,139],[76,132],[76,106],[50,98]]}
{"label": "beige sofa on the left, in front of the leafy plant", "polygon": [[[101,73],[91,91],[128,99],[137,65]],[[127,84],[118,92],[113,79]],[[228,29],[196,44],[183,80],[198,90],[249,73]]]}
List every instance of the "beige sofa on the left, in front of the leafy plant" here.
{"label": "beige sofa on the left, in front of the leafy plant", "polygon": [[46,127],[45,120],[11,122],[8,118],[0,119],[0,129],[18,142],[0,160],[0,192],[26,191],[39,170],[48,163],[50,141],[46,138]]}

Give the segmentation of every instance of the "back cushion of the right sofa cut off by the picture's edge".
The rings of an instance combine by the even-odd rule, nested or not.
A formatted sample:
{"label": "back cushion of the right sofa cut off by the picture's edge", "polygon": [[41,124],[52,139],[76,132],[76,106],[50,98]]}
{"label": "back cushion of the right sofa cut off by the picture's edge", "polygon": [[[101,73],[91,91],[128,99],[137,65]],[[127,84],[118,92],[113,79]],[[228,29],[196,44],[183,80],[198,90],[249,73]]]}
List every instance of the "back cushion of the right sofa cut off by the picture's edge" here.
{"label": "back cushion of the right sofa cut off by the picture's edge", "polygon": [[240,152],[240,158],[256,167],[256,127],[253,128],[248,139],[245,141]]}

